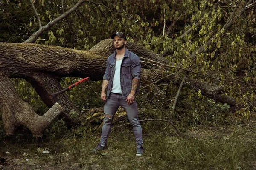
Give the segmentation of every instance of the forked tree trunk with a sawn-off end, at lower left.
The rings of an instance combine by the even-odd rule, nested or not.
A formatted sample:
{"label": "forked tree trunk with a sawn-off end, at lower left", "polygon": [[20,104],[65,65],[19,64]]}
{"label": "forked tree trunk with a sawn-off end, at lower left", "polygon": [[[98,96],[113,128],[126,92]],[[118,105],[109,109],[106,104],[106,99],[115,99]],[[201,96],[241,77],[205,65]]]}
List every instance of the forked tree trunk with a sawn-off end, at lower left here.
{"label": "forked tree trunk with a sawn-off end, at lower left", "polygon": [[0,73],[0,107],[3,125],[7,135],[24,125],[35,137],[41,137],[44,130],[61,114],[63,108],[56,103],[43,116],[35,113],[31,105],[20,99],[11,79]]}

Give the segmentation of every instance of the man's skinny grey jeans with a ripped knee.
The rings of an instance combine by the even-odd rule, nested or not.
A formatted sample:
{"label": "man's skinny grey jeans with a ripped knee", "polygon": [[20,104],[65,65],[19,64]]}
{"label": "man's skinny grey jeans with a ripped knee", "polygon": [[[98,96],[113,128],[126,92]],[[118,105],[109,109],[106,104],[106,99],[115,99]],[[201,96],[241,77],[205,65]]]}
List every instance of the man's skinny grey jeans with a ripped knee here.
{"label": "man's skinny grey jeans with a ripped knee", "polygon": [[125,112],[127,113],[128,119],[133,126],[133,132],[137,143],[137,148],[141,147],[143,144],[143,140],[142,130],[138,118],[137,103],[134,102],[131,105],[127,105],[127,102],[125,101],[125,99],[123,99],[122,94],[116,93],[110,93],[108,99],[105,101],[104,113],[111,115],[111,118],[108,118],[107,116],[105,116],[104,118],[100,143],[102,144],[102,146],[105,146],[108,139],[108,134],[111,131],[113,117],[115,116],[119,106],[122,106],[122,108],[124,108]]}

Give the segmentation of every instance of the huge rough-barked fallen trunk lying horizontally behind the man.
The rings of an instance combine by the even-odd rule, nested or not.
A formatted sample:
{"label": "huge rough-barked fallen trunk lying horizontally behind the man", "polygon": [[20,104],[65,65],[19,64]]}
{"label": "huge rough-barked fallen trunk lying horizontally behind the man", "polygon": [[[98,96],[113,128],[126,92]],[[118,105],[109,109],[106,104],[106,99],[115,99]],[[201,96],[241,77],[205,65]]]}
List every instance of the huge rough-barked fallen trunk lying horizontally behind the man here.
{"label": "huge rough-barked fallen trunk lying horizontally behind the man", "polygon": [[[136,46],[136,44],[129,43],[128,47],[135,54],[150,58],[148,61],[153,62],[157,60],[154,61],[157,64],[161,64],[162,61],[166,63],[165,59],[161,59],[160,56],[154,54],[152,51],[145,51],[145,53],[143,53],[143,48],[140,48],[140,46],[134,47],[133,45]],[[48,73],[56,77],[90,77],[91,80],[101,80],[105,73],[105,63],[108,53],[110,53],[109,51],[112,51],[112,49],[113,41],[110,39],[102,40],[102,42],[99,42],[99,44],[90,51],[79,51],[37,44],[0,43],[0,71],[5,72],[13,78],[29,77],[28,75],[31,76],[38,72],[38,75],[40,73]],[[163,65],[169,67],[169,65]],[[151,84],[149,90],[155,89],[152,91],[154,92],[153,94],[161,98],[165,95],[160,93],[160,89],[157,88],[157,84],[154,82],[161,79],[162,75],[163,72],[161,70],[143,69],[142,72],[142,84]],[[35,79],[35,77],[33,79]],[[176,81],[178,78],[174,75],[171,79]],[[224,99],[222,94],[211,91],[211,89],[216,88],[207,85],[205,82],[201,82],[202,85],[195,80],[189,82],[190,83],[187,83],[190,85],[189,88],[197,86],[198,89],[202,91],[202,94],[212,99],[218,99],[217,101],[228,103],[229,105],[236,105],[235,99],[230,96],[225,96],[226,98]],[[198,85],[198,83],[200,85]],[[204,86],[208,88],[204,88]]]}

